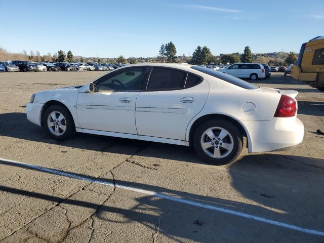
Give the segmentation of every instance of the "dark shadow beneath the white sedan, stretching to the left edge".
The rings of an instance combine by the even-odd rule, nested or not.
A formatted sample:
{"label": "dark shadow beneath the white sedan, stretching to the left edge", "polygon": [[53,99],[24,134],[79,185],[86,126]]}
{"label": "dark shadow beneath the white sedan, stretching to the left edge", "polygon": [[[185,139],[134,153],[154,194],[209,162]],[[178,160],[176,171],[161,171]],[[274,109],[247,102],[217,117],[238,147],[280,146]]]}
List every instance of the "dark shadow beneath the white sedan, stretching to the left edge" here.
{"label": "dark shadow beneath the white sedan, stretching to the left edge", "polygon": [[[73,138],[66,141],[57,141],[50,138],[41,127],[30,123],[26,118],[26,113],[22,112],[0,114],[0,136],[78,148],[83,150],[104,150],[105,152],[122,154],[128,154],[129,151],[132,151],[128,149],[130,147],[135,146],[139,148],[145,148],[149,145],[152,145],[152,149],[151,151],[148,151],[148,154],[145,154],[146,151],[142,151],[141,155],[154,156],[155,154],[157,156],[160,156],[160,158],[190,161],[192,163],[198,164],[203,163],[197,157],[194,150],[191,147],[187,146],[154,143],[148,141],[85,133],[77,133]],[[186,156],[184,157],[183,154],[186,154]]]}

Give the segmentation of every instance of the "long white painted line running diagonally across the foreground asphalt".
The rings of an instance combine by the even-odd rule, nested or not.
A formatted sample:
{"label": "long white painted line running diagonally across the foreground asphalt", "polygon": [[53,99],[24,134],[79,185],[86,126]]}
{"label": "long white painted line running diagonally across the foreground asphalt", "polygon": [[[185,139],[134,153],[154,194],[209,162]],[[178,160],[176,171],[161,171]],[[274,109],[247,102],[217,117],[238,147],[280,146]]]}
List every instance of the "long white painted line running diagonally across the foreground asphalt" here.
{"label": "long white painted line running diagonally across the foreground asphalt", "polygon": [[282,223],[282,222],[278,222],[278,221],[274,221],[274,220],[270,220],[270,219],[250,215],[250,214],[240,213],[240,212],[236,212],[236,211],[233,211],[233,210],[223,209],[223,208],[219,208],[219,207],[215,207],[215,206],[211,206],[211,205],[207,205],[207,204],[196,203],[195,201],[190,201],[190,200],[181,199],[181,198],[177,198],[177,197],[173,197],[173,196],[168,196],[168,195],[165,195],[165,194],[157,193],[155,191],[148,191],[148,190],[144,190],[144,189],[140,189],[140,188],[135,188],[135,187],[130,187],[130,186],[123,186],[123,185],[119,185],[119,184],[114,185],[111,182],[106,182],[106,181],[103,181],[103,180],[100,180],[100,179],[93,180],[93,179],[90,179],[90,178],[87,178],[87,177],[77,176],[77,175],[74,175],[72,173],[63,172],[63,171],[59,171],[59,170],[55,170],[55,169],[48,169],[48,168],[45,168],[45,167],[42,167],[42,166],[31,165],[31,164],[22,163],[22,162],[10,160],[10,159],[5,159],[5,158],[0,158],[0,164],[1,164],[1,160],[12,163],[12,164],[22,165],[22,166],[24,166],[26,168],[32,168],[32,169],[36,169],[36,170],[39,170],[39,171],[45,171],[45,172],[48,172],[48,173],[51,173],[51,174],[70,177],[70,178],[83,180],[83,181],[89,181],[89,182],[103,184],[103,185],[112,186],[112,187],[115,186],[117,188],[129,190],[129,191],[135,191],[135,192],[143,193],[143,194],[146,194],[146,195],[151,195],[151,196],[156,196],[156,197],[159,197],[159,198],[163,198],[163,199],[166,199],[166,200],[176,201],[177,203],[192,205],[192,206],[203,208],[203,209],[209,209],[209,210],[214,210],[214,211],[218,211],[218,212],[222,212],[222,213],[226,213],[226,214],[236,215],[236,216],[247,218],[247,219],[253,219],[253,220],[256,220],[256,221],[263,222],[263,223],[273,224],[273,225],[276,225],[276,226],[280,226],[280,227],[284,227],[284,228],[288,228],[288,229],[293,229],[293,230],[297,230],[297,231],[301,231],[301,232],[305,232],[305,233],[309,233],[309,234],[315,234],[315,235],[324,236],[324,231],[318,231],[318,230],[314,230],[314,229],[306,229],[306,228],[298,227],[298,226],[295,226],[295,225],[286,224],[286,223]]}

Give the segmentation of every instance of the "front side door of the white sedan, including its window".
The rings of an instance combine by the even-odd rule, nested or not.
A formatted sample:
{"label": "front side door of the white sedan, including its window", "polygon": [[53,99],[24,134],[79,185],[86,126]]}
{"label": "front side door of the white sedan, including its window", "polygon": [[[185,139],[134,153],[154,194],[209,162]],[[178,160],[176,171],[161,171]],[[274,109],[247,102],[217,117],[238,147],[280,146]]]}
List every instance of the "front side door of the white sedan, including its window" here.
{"label": "front side door of the white sedan, including its window", "polygon": [[80,92],[77,119],[81,128],[137,134],[135,104],[147,67],[123,68],[94,82],[94,92]]}

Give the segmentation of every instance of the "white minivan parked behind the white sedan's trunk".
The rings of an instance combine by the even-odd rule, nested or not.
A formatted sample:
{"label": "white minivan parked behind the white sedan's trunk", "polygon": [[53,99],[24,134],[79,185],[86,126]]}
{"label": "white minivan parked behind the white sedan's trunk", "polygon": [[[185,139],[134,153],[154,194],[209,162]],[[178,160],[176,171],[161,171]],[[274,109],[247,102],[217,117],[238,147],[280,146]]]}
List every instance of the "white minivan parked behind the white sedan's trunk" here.
{"label": "white minivan parked behind the white sedan's trunk", "polygon": [[251,80],[265,77],[264,66],[261,63],[234,63],[227,68],[220,68],[218,71]]}

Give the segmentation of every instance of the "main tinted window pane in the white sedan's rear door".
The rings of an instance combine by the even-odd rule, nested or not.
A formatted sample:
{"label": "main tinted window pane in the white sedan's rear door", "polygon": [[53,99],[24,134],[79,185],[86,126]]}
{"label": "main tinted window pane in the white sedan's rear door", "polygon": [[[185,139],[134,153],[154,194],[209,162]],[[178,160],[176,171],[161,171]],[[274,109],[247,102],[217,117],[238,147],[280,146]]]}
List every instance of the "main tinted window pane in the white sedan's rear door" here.
{"label": "main tinted window pane in the white sedan's rear door", "polygon": [[183,89],[186,77],[187,73],[180,70],[153,67],[146,90],[159,91]]}

